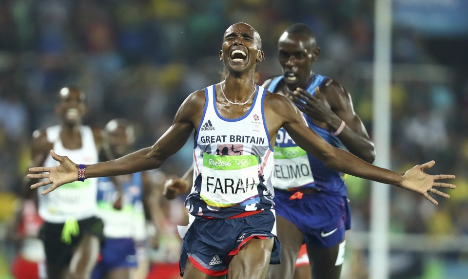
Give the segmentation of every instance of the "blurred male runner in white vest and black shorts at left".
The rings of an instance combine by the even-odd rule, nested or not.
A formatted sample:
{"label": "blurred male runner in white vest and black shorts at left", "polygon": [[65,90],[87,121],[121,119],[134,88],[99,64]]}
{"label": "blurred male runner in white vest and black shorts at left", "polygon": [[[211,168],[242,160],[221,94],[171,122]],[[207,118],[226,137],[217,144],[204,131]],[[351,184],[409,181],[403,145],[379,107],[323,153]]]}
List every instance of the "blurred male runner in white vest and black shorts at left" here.
{"label": "blurred male runner in white vest and black shorts at left", "polygon": [[[86,164],[97,163],[104,141],[101,130],[81,125],[85,94],[77,86],[62,88],[55,111],[61,124],[33,133],[32,165],[56,166],[50,149]],[[96,217],[96,191],[97,179],[93,178],[67,184],[52,195],[38,195],[39,215],[44,220],[39,237],[44,241],[49,279],[89,278],[103,229]]]}

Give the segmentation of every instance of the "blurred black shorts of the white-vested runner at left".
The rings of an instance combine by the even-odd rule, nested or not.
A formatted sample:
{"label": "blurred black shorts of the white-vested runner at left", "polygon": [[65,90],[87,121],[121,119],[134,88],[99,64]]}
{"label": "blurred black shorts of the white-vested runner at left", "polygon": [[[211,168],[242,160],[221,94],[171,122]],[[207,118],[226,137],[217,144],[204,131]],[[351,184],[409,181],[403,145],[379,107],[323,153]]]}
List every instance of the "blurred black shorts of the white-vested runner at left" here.
{"label": "blurred black shorts of the white-vested runner at left", "polygon": [[39,238],[44,242],[45,257],[48,266],[64,268],[70,264],[73,252],[85,235],[98,237],[101,245],[104,242],[104,223],[97,217],[79,220],[79,234],[72,236],[70,242],[62,241],[62,230],[65,223],[44,222]]}

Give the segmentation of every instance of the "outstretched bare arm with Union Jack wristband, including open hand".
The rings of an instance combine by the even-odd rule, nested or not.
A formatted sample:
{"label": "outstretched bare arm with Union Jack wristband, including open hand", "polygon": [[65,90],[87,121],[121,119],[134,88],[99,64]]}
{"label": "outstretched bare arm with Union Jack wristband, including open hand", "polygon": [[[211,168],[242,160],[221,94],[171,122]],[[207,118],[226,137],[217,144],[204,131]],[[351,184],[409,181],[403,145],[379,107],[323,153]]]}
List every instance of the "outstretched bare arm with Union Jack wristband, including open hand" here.
{"label": "outstretched bare arm with Union Jack wristband, including open hand", "polygon": [[[103,177],[115,176],[160,167],[172,154],[176,153],[185,144],[195,125],[198,125],[205,103],[204,91],[190,94],[182,103],[174,118],[173,125],[156,141],[152,147],[140,149],[136,152],[116,160],[87,165],[85,176]],[[59,161],[57,167],[33,167],[30,172],[49,172],[28,174],[28,178],[44,178],[45,180],[34,184],[37,188],[52,184],[41,194],[53,191],[57,187],[78,180],[78,166],[66,156],[59,156],[51,150],[52,157]]]}

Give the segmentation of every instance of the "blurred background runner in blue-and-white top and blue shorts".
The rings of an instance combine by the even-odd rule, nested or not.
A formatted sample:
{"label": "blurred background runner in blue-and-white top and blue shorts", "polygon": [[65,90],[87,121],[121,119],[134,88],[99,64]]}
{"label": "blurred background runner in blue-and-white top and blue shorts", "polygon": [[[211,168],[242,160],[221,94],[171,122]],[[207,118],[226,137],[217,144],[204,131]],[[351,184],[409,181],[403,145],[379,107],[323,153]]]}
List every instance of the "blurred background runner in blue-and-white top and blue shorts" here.
{"label": "blurred background runner in blue-and-white top and blue shorts", "polygon": [[[111,155],[120,158],[131,151],[135,142],[133,126],[125,119],[113,119],[105,126]],[[121,193],[117,191],[115,181],[109,177],[98,179],[98,216],[104,222],[105,243],[100,250],[98,264],[92,279],[130,279],[135,278],[138,267],[137,241],[145,237],[145,212],[148,208],[147,197],[151,183],[146,172],[137,172],[115,177]],[[120,199],[119,208],[114,203]],[[146,206],[144,206],[146,205]],[[142,234],[142,237],[140,235]],[[139,243],[139,249],[144,249]],[[141,254],[141,251],[140,251]],[[144,256],[144,255],[139,255]],[[147,260],[147,257],[142,259]],[[141,270],[146,275],[148,264],[141,262]],[[140,278],[145,278],[141,276]]]}

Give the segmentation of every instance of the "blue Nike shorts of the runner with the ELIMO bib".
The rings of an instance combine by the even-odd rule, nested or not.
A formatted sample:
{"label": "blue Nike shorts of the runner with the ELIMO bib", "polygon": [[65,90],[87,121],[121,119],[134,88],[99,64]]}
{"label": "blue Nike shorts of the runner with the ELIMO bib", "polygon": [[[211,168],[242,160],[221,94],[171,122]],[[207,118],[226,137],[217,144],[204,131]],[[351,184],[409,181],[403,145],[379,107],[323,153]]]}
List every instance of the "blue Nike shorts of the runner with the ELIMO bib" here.
{"label": "blue Nike shorts of the runner with the ELIMO bib", "polygon": [[274,209],[278,216],[299,228],[306,243],[330,248],[345,238],[345,231],[351,228],[347,197],[310,193],[297,198],[300,195],[294,193],[275,189]]}

